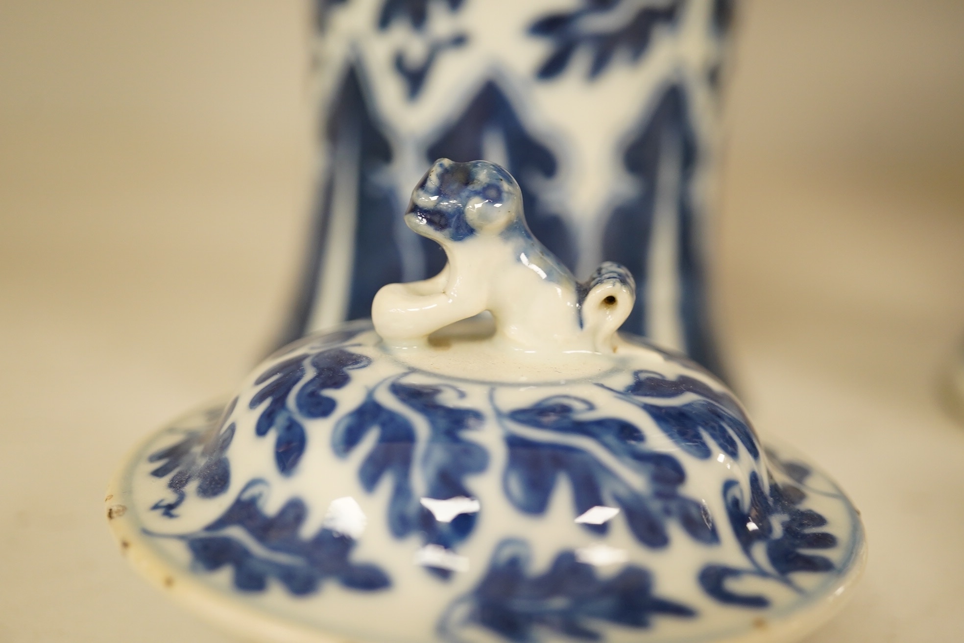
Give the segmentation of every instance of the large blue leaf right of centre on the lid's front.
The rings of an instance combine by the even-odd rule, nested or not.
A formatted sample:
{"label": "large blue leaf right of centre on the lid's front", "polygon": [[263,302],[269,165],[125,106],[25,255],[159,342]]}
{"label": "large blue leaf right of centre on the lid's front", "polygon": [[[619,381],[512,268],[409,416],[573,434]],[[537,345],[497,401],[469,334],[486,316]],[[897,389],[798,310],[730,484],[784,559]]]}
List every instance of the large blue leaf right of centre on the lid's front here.
{"label": "large blue leaf right of centre on the lid's front", "polygon": [[[577,516],[596,506],[615,505],[625,513],[636,539],[649,547],[659,548],[669,543],[665,522],[671,519],[679,521],[698,542],[718,542],[706,505],[679,494],[686,477],[679,461],[647,449],[642,431],[626,420],[579,418],[594,409],[587,400],[558,395],[502,417],[509,449],[503,488],[512,503],[525,513],[544,513],[561,474],[568,476],[572,484]],[[545,433],[521,435],[505,419]],[[630,485],[590,450],[571,441],[555,442],[563,436],[584,437],[603,446],[648,482],[648,493]],[[586,522],[583,526],[597,533],[605,533],[608,528],[604,522]]]}

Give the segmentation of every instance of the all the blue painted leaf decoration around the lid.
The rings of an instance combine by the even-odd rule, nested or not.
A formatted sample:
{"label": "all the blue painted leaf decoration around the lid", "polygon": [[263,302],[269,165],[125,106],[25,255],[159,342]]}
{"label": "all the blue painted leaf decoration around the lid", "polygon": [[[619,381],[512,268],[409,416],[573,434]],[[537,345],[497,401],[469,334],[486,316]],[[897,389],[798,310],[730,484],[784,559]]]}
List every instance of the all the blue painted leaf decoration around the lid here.
{"label": "all the blue painted leaf decoration around the lid", "polygon": [[[668,546],[671,522],[679,524],[694,542],[718,546],[719,530],[728,523],[748,565],[706,565],[697,581],[712,600],[765,607],[770,603],[766,596],[737,593],[729,582],[755,576],[799,591],[790,576],[793,573],[834,569],[829,558],[809,551],[834,548],[837,540],[833,534],[817,530],[826,524],[820,514],[801,506],[807,497],[802,488],[810,470],[799,463],[771,455],[773,466],[788,482],[777,483],[770,475],[768,484],[764,483],[754,470],[749,474],[748,495],[743,485],[727,480],[721,490],[725,521],[715,521],[705,502],[682,493],[686,471],[678,457],[648,446],[644,431],[637,422],[629,421],[629,416],[601,414],[586,398],[557,394],[502,408],[496,399],[497,388],[490,387],[488,404],[480,405],[488,408],[473,408],[476,405],[469,403],[465,389],[448,383],[416,383],[411,381],[415,371],[404,370],[379,381],[357,405],[339,410],[332,391],[345,387],[353,371],[371,364],[370,358],[352,349],[355,335],[330,335],[307,342],[293,354],[281,354],[255,378],[248,407],[254,411],[256,436],[276,433],[275,461],[283,476],[296,470],[311,420],[329,418],[330,446],[337,457],[345,459],[366,449],[358,479],[369,494],[380,484],[389,485],[386,522],[395,538],[418,534],[423,546],[450,553],[469,539],[480,518],[479,506],[440,517],[431,503],[475,497],[472,476],[489,468],[491,456],[472,436],[491,415],[502,432],[506,453],[502,492],[522,514],[544,514],[559,481],[568,479],[574,516],[598,507],[618,508],[621,520],[644,547]],[[756,436],[739,406],[729,394],[701,379],[688,375],[669,379],[653,371],[636,371],[628,386],[603,388],[645,412],[658,430],[697,460],[706,459],[710,442],[734,459],[741,455],[759,459]],[[177,442],[147,457],[151,464],[159,463],[151,474],[167,478],[168,488],[174,491],[174,499],[158,500],[153,507],[163,516],[177,517],[176,509],[192,481],[197,481],[195,493],[201,498],[227,491],[228,446],[237,431],[232,420],[236,402],[228,405],[219,421],[209,414],[206,428],[181,430]],[[201,569],[213,572],[231,567],[234,585],[242,591],[261,591],[271,578],[296,595],[318,591],[326,578],[362,591],[391,584],[376,566],[349,560],[355,543],[351,535],[323,527],[309,538],[300,536],[307,513],[300,498],[290,498],[274,516],[263,513],[268,487],[263,480],[249,482],[219,519],[199,532],[176,536],[185,541]],[[599,535],[610,526],[609,522],[579,523]],[[692,614],[686,605],[654,598],[649,571],[630,565],[617,576],[601,580],[595,578],[591,567],[578,562],[572,551],[559,552],[545,574],[529,576],[526,548],[519,542],[503,542],[496,548],[480,584],[461,600],[464,609],[459,618],[524,643],[546,628],[577,638],[595,638],[594,630],[583,622],[590,618],[647,627],[655,614]],[[451,577],[454,569],[431,562],[422,565],[442,579]],[[513,579],[510,584],[519,594],[517,598],[527,597],[533,605],[582,604],[579,592],[588,591],[586,588],[594,588],[593,596],[609,599],[558,614],[538,605],[532,613],[528,608],[513,613],[518,602],[500,599],[502,603],[498,603],[491,591],[509,579]],[[610,599],[634,605],[637,621],[626,621],[628,612],[622,609],[603,609]],[[602,611],[594,611],[594,604]],[[504,618],[493,616],[499,610],[505,612]]]}

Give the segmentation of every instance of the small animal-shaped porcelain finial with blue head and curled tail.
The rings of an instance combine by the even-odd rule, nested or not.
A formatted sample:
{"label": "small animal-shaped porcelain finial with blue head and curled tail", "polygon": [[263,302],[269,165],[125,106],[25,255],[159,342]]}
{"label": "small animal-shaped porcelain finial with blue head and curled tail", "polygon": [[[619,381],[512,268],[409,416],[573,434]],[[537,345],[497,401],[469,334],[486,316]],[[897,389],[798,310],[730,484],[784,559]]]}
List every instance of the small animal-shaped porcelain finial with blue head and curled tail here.
{"label": "small animal-shaped porcelain finial with blue head and curled tail", "polygon": [[423,345],[443,327],[489,310],[495,337],[514,348],[613,350],[635,301],[629,271],[606,262],[577,282],[532,236],[519,184],[502,167],[436,161],[415,187],[405,223],[438,242],[448,263],[431,279],[390,283],[375,295],[372,321],[389,345]]}

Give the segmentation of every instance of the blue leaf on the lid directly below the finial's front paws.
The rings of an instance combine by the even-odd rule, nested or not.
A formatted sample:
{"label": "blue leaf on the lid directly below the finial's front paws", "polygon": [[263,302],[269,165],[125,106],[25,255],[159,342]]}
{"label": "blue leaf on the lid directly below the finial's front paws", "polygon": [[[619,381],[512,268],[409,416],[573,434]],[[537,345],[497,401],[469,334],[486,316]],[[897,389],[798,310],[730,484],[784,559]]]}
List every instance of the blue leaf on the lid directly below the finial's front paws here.
{"label": "blue leaf on the lid directly below the finial's front paws", "polygon": [[[390,393],[428,422],[431,433],[424,446],[416,470],[424,480],[425,498],[446,500],[472,496],[465,478],[488,467],[489,454],[484,448],[462,437],[482,423],[483,415],[474,409],[446,406],[439,401],[445,390],[459,397],[464,393],[448,386],[426,386],[400,382],[388,385]],[[369,393],[362,405],[338,421],[333,434],[333,447],[339,457],[347,457],[369,431],[377,430],[378,438],[362,461],[359,479],[365,491],[372,492],[385,476],[392,479],[388,503],[388,526],[396,538],[416,529],[427,545],[454,549],[469,537],[475,513],[462,513],[446,520],[438,519],[415,497],[412,474],[415,456],[415,429],[408,417],[379,403]],[[450,570],[430,567],[433,573],[448,577]]]}

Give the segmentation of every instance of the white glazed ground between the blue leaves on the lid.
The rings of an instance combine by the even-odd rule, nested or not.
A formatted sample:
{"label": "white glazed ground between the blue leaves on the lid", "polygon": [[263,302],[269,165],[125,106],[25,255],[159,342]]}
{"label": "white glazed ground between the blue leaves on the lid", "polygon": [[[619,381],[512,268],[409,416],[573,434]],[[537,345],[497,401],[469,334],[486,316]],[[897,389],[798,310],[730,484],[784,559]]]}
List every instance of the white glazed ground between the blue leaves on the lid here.
{"label": "white glazed ground between the blue leaves on the lid", "polygon": [[[836,535],[838,542],[831,549],[809,550],[827,556],[833,562],[834,571],[826,574],[793,573],[791,579],[799,588],[793,591],[781,584],[778,576],[748,577],[738,579],[732,587],[746,595],[763,595],[772,603],[765,609],[733,608],[714,601],[701,591],[697,576],[701,568],[713,564],[729,564],[737,569],[753,569],[743,554],[726,519],[726,506],[722,486],[727,479],[740,479],[745,483],[750,471],[766,479],[760,464],[749,457],[744,448],[736,458],[714,451],[706,460],[688,457],[677,444],[659,431],[652,420],[647,420],[639,409],[626,402],[614,403],[612,393],[593,383],[555,384],[543,387],[520,387],[518,385],[493,385],[469,380],[453,381],[448,377],[411,371],[404,364],[388,357],[377,345],[377,335],[364,331],[353,337],[348,345],[353,352],[371,357],[372,366],[355,371],[355,386],[335,392],[339,408],[352,409],[362,402],[366,391],[376,399],[384,400],[392,408],[412,415],[398,399],[393,399],[388,386],[391,382],[405,382],[413,386],[437,387],[444,391],[440,399],[452,403],[454,408],[480,409],[487,418],[494,413],[495,405],[501,409],[515,409],[531,405],[551,395],[578,396],[598,405],[599,411],[586,413],[587,418],[618,414],[645,427],[650,449],[678,457],[686,468],[686,481],[681,493],[702,499],[712,516],[721,517],[716,523],[720,544],[708,547],[688,537],[679,524],[670,522],[669,548],[650,549],[641,546],[620,515],[618,502],[611,510],[582,515],[574,511],[574,498],[568,485],[560,483],[543,515],[526,515],[514,507],[501,488],[501,471],[508,457],[505,431],[526,432],[518,423],[500,427],[494,420],[469,432],[467,438],[489,451],[489,471],[469,477],[472,502],[460,501],[455,510],[465,509],[471,513],[478,510],[479,520],[472,533],[457,551],[425,545],[424,537],[417,532],[404,538],[394,538],[387,522],[391,484],[384,480],[373,491],[365,489],[358,472],[364,457],[364,448],[347,458],[339,458],[333,452],[330,433],[335,418],[315,420],[306,424],[308,449],[295,475],[282,476],[273,457],[274,440],[255,435],[256,414],[238,416],[234,442],[231,443],[231,483],[227,492],[212,499],[193,494],[188,487],[187,500],[173,511],[175,518],[165,517],[156,509],[158,501],[172,502],[176,496],[166,486],[167,478],[158,478],[150,472],[163,460],[149,456],[164,451],[181,442],[185,433],[196,430],[217,429],[220,426],[220,410],[210,410],[186,415],[171,427],[151,437],[132,455],[127,467],[120,471],[112,484],[107,500],[111,526],[120,547],[131,562],[155,584],[170,593],[176,600],[201,615],[216,622],[220,627],[264,640],[329,640],[351,638],[364,641],[427,641],[440,635],[444,618],[457,619],[458,612],[451,612],[452,605],[464,600],[486,575],[493,551],[506,539],[529,543],[531,559],[528,573],[532,576],[545,574],[558,552],[575,551],[580,561],[593,566],[596,574],[611,577],[626,565],[652,571],[656,578],[656,593],[663,599],[674,599],[695,609],[695,619],[656,615],[652,627],[647,630],[631,628],[606,628],[604,621],[590,619],[592,630],[603,630],[606,640],[726,640],[726,641],[783,641],[794,640],[817,628],[839,608],[841,599],[849,596],[849,586],[859,576],[865,554],[860,521],[840,489],[819,470],[799,485],[807,499],[801,509],[815,510],[826,519],[826,525],[815,531]],[[339,345],[339,344],[335,344]],[[346,345],[341,343],[340,345]],[[309,353],[319,348],[331,347],[330,340],[316,337],[295,352]],[[674,359],[647,348],[624,345],[627,351],[623,363],[659,372],[673,379],[680,375],[695,376],[703,380],[707,376]],[[621,351],[622,352],[622,351]],[[292,354],[281,355],[264,364],[289,360]],[[258,371],[259,372],[259,371]],[[622,388],[632,382],[631,371],[617,372],[599,378],[599,382]],[[246,408],[255,373],[247,383],[248,397],[239,400],[238,407]],[[718,386],[718,385],[714,385]],[[446,390],[447,389],[447,390]],[[570,401],[573,398],[569,398]],[[605,411],[603,411],[603,409]],[[505,420],[503,420],[505,421]],[[510,422],[511,423],[511,422]],[[419,431],[429,431],[428,427]],[[533,429],[528,429],[529,434]],[[371,445],[371,436],[364,442]],[[710,442],[711,443],[711,442]],[[780,462],[806,463],[807,461],[790,447],[776,446]],[[610,456],[611,457],[611,456]],[[773,462],[771,460],[771,462]],[[618,468],[618,463],[617,463]],[[772,482],[797,486],[779,464],[772,469]],[[425,480],[417,485],[425,484]],[[252,480],[262,482],[252,483]],[[424,489],[424,488],[422,488]],[[715,493],[714,493],[715,492]],[[424,493],[424,492],[421,492]],[[741,484],[740,496],[747,498],[750,490]],[[258,506],[267,517],[277,516],[286,502],[302,498],[308,506],[308,514],[301,523],[298,534],[308,539],[325,525],[338,524],[338,516],[344,516],[344,506],[350,508],[348,518],[341,519],[344,533],[351,532],[357,538],[357,547],[351,559],[362,564],[376,564],[391,578],[391,587],[374,593],[364,593],[339,586],[334,578],[323,580],[317,592],[306,596],[294,596],[278,581],[268,578],[265,591],[239,591],[234,580],[235,570],[225,566],[215,572],[204,571],[198,560],[192,561],[187,546],[189,539],[207,536],[238,535],[238,527],[227,531],[215,529],[203,531],[204,527],[222,515],[239,496],[257,498]],[[351,501],[346,503],[345,498]],[[430,502],[421,500],[423,506]],[[449,501],[451,504],[451,501]],[[341,510],[339,511],[339,504]],[[468,509],[467,509],[468,507]],[[355,513],[357,512],[357,513]],[[446,518],[439,508],[435,516]],[[354,517],[354,520],[353,520]],[[363,518],[362,518],[363,517]],[[780,518],[774,519],[777,524]],[[606,534],[588,531],[584,522],[608,522]],[[779,527],[778,527],[779,528]],[[241,542],[253,551],[257,544],[250,535],[241,534]],[[761,544],[762,545],[762,544]],[[523,548],[525,549],[525,548]],[[754,555],[766,569],[772,570],[762,549]],[[283,555],[274,554],[283,562]],[[268,556],[271,557],[270,555]],[[289,562],[298,561],[291,559]],[[451,570],[451,577],[441,579],[426,570],[426,566],[442,566]],[[561,600],[561,599],[560,599]],[[379,618],[368,615],[377,613]],[[454,615],[453,615],[454,614]],[[583,624],[586,625],[586,624]],[[535,628],[538,640],[556,640],[551,630]],[[557,632],[555,632],[557,634]],[[491,631],[469,627],[446,632],[442,640],[500,640]],[[455,636],[457,636],[457,638]],[[565,637],[559,638],[565,640]]]}

